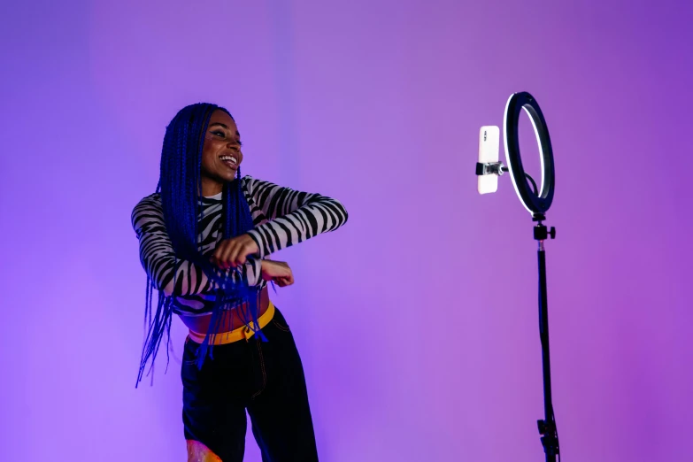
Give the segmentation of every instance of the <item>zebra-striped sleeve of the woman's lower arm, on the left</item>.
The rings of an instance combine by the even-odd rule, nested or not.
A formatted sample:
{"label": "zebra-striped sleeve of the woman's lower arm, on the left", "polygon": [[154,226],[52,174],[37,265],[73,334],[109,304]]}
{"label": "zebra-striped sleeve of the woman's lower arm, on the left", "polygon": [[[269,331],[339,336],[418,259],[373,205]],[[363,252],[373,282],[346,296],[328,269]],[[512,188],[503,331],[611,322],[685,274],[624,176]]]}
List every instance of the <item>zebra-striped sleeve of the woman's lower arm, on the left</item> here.
{"label": "zebra-striped sleeve of the woman's lower arm, on the left", "polygon": [[[175,257],[158,200],[152,196],[142,199],[133,210],[132,225],[140,241],[142,267],[157,289],[163,290],[166,296],[190,296],[214,289],[199,266]],[[249,259],[237,270],[227,270],[226,274],[234,282],[242,278],[255,286],[262,281],[261,263],[259,259]]]}

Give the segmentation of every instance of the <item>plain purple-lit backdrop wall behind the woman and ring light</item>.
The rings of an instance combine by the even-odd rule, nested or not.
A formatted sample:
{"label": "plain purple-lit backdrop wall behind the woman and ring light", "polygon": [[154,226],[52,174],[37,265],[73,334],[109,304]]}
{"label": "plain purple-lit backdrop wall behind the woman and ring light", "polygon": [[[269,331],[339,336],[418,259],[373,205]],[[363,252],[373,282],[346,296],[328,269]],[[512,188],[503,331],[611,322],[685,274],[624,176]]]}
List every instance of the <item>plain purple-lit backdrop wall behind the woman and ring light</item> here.
{"label": "plain purple-lit backdrop wall behind the woman and ring light", "polygon": [[565,459],[693,459],[692,20],[683,0],[4,2],[2,458],[184,460],[178,363],[134,387],[129,219],[168,121],[212,101],[245,174],[350,212],[277,255],[322,460],[543,460],[532,223],[507,176],[478,196],[473,174],[479,127],[525,90],[556,155]]}

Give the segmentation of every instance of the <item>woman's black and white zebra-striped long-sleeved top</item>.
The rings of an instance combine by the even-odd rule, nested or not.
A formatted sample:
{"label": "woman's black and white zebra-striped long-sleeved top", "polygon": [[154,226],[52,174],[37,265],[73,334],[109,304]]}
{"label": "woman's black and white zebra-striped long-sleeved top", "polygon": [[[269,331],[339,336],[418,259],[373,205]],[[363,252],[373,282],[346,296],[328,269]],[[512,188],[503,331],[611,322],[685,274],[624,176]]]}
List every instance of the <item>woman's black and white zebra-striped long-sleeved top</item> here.
{"label": "woman's black and white zebra-striped long-sleeved top", "polygon": [[[249,234],[260,250],[258,258],[249,258],[241,268],[241,277],[251,286],[266,285],[261,277],[262,258],[315,235],[334,231],[348,219],[343,205],[330,197],[282,188],[250,176],[241,181],[255,225]],[[211,257],[223,238],[221,193],[203,197],[202,204],[203,219],[198,221],[197,229],[202,253]],[[135,206],[132,224],[140,241],[142,266],[157,289],[162,290],[165,296],[173,296],[173,312],[188,316],[211,312],[214,302],[212,284],[198,266],[176,260],[171,239],[166,234],[158,193],[144,197]],[[237,279],[233,270],[228,273]]]}

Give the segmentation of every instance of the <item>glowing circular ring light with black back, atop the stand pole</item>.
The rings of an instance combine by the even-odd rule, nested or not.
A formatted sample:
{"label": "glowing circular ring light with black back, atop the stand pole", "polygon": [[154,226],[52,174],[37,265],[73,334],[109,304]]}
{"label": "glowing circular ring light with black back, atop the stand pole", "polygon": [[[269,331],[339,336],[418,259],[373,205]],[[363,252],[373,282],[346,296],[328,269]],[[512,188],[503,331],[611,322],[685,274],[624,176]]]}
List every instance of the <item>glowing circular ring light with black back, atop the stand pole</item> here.
{"label": "glowing circular ring light with black back, atop the stand pole", "polygon": [[[539,157],[542,162],[542,187],[539,194],[529,189],[525,169],[520,158],[520,140],[518,133],[518,121],[520,120],[520,110],[527,112],[532,126],[535,128],[536,142],[539,144]],[[551,149],[551,138],[549,129],[546,127],[546,120],[539,104],[536,103],[534,96],[526,91],[514,93],[508,98],[505,104],[504,115],[504,146],[505,160],[508,163],[508,170],[512,178],[512,185],[515,192],[520,197],[520,202],[525,206],[527,212],[544,214],[551,207],[553,201],[553,189],[555,186],[555,176],[553,170],[553,150]]]}

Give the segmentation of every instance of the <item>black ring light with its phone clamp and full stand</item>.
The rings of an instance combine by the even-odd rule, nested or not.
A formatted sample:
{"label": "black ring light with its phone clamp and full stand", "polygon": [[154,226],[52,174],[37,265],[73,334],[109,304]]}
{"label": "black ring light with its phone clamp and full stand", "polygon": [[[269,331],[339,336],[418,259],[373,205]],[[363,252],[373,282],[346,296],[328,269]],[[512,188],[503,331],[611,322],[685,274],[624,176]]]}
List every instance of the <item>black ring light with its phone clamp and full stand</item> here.
{"label": "black ring light with its phone clamp and full stand", "polygon": [[[518,121],[520,111],[527,112],[532,126],[535,128],[536,140],[539,143],[540,158],[542,161],[542,186],[541,190],[536,190],[534,180],[525,173],[520,158],[520,142],[518,138]],[[485,134],[485,132],[483,132]],[[482,141],[486,141],[486,135]],[[558,446],[558,429],[553,412],[551,401],[551,359],[549,349],[549,304],[546,289],[546,250],[544,242],[551,237],[556,237],[556,228],[548,229],[544,226],[546,220],[545,213],[551,207],[553,200],[553,189],[555,186],[555,176],[553,168],[553,150],[551,149],[551,138],[546,127],[546,120],[543,118],[542,110],[536,100],[527,92],[515,93],[510,96],[505,105],[504,114],[504,147],[505,158],[508,166],[501,162],[477,163],[477,175],[502,175],[504,171],[511,173],[512,185],[520,198],[527,212],[532,214],[532,220],[536,222],[534,227],[534,238],[539,243],[537,250],[537,260],[539,265],[539,335],[542,343],[542,371],[543,371],[543,407],[544,419],[537,420],[539,434],[543,450],[546,455],[546,462],[556,462],[560,459]],[[481,158],[481,150],[480,150]],[[496,157],[497,158],[497,157]],[[530,190],[527,179],[532,181],[534,186]],[[480,189],[480,192],[481,189]],[[485,192],[493,192],[492,190]],[[483,193],[483,192],[482,192]]]}

